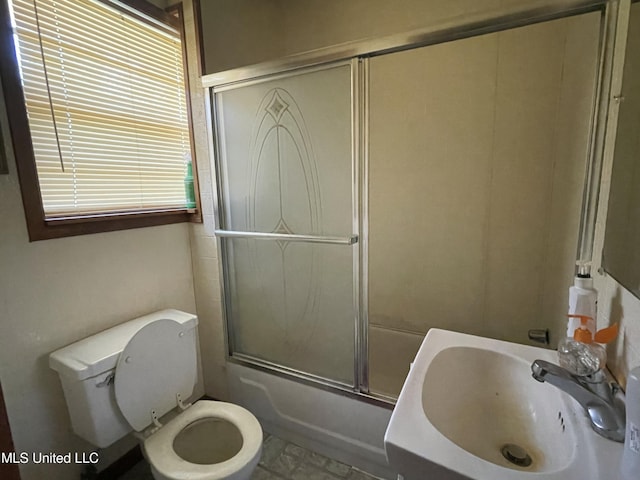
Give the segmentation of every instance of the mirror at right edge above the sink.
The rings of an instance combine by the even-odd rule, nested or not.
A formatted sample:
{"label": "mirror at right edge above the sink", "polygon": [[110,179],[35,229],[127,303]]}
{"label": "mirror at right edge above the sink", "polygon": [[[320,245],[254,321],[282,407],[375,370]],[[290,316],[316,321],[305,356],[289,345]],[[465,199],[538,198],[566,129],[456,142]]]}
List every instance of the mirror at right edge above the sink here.
{"label": "mirror at right edge above the sink", "polygon": [[631,5],[602,265],[640,298],[640,3]]}

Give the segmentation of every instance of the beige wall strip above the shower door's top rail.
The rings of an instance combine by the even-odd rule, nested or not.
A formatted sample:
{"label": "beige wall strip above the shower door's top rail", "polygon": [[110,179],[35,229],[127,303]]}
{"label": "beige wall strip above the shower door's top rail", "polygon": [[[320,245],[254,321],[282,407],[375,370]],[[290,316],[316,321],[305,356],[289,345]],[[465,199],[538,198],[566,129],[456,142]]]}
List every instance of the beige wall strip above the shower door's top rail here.
{"label": "beige wall strip above the shower door's top rail", "polygon": [[571,0],[200,0],[205,73]]}

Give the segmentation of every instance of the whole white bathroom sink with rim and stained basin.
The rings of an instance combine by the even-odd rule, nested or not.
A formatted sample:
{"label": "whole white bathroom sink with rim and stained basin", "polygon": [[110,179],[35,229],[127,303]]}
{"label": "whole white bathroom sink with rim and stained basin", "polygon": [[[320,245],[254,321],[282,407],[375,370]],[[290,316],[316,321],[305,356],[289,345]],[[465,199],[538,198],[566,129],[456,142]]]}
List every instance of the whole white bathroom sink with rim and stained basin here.
{"label": "whole white bathroom sink with rim and stained basin", "polygon": [[534,380],[535,359],[557,363],[555,351],[431,329],[387,428],[390,465],[405,480],[617,478],[622,445]]}

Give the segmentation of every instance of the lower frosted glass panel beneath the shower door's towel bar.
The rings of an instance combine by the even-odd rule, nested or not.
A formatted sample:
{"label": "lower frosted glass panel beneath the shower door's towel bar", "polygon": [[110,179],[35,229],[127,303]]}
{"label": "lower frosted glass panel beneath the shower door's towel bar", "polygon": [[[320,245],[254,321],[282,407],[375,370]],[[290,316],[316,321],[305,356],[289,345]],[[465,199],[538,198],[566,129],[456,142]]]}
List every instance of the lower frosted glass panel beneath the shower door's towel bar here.
{"label": "lower frosted glass panel beneath the shower door's towel bar", "polygon": [[223,241],[233,351],[352,385],[355,247]]}

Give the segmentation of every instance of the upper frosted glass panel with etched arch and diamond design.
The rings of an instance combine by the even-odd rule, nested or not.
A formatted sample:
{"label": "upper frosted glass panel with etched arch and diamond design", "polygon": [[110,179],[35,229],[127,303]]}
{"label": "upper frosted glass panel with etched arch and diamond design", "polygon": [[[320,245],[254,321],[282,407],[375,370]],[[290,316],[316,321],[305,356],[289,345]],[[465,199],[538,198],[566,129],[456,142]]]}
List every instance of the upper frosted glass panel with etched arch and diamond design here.
{"label": "upper frosted glass panel with etched arch and diamond design", "polygon": [[351,67],[216,94],[225,227],[350,235]]}

